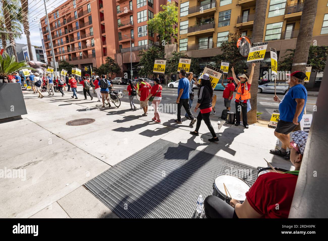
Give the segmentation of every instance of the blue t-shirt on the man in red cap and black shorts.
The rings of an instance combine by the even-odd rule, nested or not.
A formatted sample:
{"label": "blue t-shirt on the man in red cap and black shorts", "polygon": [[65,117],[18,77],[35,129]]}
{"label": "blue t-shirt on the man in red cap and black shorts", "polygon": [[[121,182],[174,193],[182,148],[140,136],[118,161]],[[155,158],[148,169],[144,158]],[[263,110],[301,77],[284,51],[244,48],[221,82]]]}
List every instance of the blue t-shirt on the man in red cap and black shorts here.
{"label": "blue t-shirt on the man in red cap and black shorts", "polygon": [[305,100],[303,110],[298,116],[298,122],[301,121],[307,100],[307,91],[303,84],[297,84],[291,87],[284,98],[282,98],[279,104],[280,120],[293,122],[297,106],[295,99]]}

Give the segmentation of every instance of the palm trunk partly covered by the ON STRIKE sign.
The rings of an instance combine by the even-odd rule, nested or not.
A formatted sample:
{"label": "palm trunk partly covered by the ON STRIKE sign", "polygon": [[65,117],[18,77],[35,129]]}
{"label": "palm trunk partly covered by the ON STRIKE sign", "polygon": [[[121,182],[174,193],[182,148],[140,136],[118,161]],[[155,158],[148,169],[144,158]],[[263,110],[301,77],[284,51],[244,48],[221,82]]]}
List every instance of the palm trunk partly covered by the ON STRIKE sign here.
{"label": "palm trunk partly covered by the ON STRIKE sign", "polygon": [[[256,0],[255,7],[255,18],[253,24],[253,34],[251,42],[262,43],[263,42],[263,33],[265,25],[265,14],[267,9],[268,1],[267,0]],[[247,73],[250,74],[252,70],[252,65],[248,65]],[[251,85],[251,99],[250,103],[252,109],[247,113],[248,124],[256,123],[256,112],[257,112],[257,87],[258,87],[258,78],[260,75],[260,63],[256,63],[254,67],[253,81]]]}

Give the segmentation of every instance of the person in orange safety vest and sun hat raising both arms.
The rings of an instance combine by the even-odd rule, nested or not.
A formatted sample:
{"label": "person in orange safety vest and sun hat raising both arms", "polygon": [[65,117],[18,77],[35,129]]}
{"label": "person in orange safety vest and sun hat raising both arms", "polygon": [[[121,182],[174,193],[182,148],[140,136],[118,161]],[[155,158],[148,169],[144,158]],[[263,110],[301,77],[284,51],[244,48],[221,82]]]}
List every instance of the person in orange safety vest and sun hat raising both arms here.
{"label": "person in orange safety vest and sun hat raising both arms", "polygon": [[251,84],[253,80],[255,63],[252,64],[251,74],[242,74],[236,77],[234,67],[231,67],[232,76],[237,84],[237,93],[235,96],[236,104],[236,124],[235,126],[240,125],[240,111],[243,113],[243,125],[248,129],[247,123],[247,101],[251,99]]}

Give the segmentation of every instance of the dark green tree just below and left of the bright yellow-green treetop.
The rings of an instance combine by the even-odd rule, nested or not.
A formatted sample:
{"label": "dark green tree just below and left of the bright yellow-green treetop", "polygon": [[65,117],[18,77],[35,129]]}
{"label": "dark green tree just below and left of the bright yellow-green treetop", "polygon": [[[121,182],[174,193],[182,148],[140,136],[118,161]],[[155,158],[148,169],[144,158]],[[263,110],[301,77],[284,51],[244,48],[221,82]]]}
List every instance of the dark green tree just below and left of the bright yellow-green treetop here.
{"label": "dark green tree just below and left of the bright yellow-green treetop", "polygon": [[140,57],[138,64],[140,70],[138,74],[139,76],[148,76],[153,74],[155,59],[164,58],[164,50],[159,47],[152,46],[147,50],[142,49],[138,56]]}

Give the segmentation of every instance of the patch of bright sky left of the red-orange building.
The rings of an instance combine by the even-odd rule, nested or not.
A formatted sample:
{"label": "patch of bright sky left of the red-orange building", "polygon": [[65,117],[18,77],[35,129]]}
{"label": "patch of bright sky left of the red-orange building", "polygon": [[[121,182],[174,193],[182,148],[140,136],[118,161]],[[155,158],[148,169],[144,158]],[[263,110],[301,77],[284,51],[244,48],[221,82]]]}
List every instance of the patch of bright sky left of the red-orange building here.
{"label": "patch of bright sky left of the red-orange building", "polygon": [[[63,4],[67,0],[48,0],[46,2],[47,11],[48,14],[58,7],[59,5]],[[29,23],[30,23],[30,39],[31,39],[31,45],[36,46],[42,46],[41,37],[40,37],[40,31],[39,31],[39,23],[40,18],[45,16],[45,10],[44,10],[44,3],[43,0],[29,0]],[[23,27],[22,27],[23,30]],[[26,36],[23,32],[21,35],[21,39],[16,39],[16,43],[19,44],[27,44]]]}

